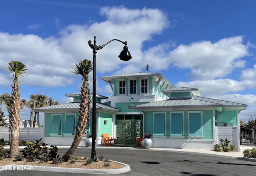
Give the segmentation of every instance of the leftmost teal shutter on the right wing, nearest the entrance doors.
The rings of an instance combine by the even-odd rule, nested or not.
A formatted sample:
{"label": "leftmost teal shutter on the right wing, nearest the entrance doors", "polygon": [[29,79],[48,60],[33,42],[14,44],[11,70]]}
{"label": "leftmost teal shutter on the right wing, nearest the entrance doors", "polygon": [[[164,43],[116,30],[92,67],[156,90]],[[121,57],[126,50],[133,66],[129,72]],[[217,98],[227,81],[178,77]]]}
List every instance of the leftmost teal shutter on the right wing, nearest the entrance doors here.
{"label": "leftmost teal shutter on the right wing, nearest the entrance doors", "polygon": [[153,135],[164,136],[164,132],[165,132],[165,114],[154,114]]}

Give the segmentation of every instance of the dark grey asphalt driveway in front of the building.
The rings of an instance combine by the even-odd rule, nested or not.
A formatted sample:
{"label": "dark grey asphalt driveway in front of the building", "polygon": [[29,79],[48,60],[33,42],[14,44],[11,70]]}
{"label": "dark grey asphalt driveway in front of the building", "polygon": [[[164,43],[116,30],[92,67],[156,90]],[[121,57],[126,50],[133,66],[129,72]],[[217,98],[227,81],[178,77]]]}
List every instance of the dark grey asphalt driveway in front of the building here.
{"label": "dark grey asphalt driveway in front of the building", "polygon": [[[68,148],[59,148],[64,154]],[[91,156],[91,148],[78,148],[75,156]],[[210,156],[206,154],[180,153],[173,151],[154,151],[122,148],[98,148],[96,156],[103,155],[110,160],[130,165],[129,172],[122,176],[242,176],[255,175],[256,162],[231,157]],[[47,172],[35,170],[1,171],[1,176],[89,176],[92,174]],[[93,174],[97,176],[98,174]]]}

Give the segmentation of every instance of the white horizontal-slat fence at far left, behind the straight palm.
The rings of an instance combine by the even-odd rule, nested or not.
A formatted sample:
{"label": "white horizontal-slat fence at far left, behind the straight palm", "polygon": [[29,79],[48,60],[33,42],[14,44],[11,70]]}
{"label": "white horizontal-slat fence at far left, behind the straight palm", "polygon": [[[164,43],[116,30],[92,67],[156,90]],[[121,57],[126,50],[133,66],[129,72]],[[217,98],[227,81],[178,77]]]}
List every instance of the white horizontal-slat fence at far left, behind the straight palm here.
{"label": "white horizontal-slat fence at far left, behind the straight palm", "polygon": [[[9,140],[9,131],[8,128],[2,127],[0,128],[0,139],[4,138],[4,140]],[[40,142],[44,141],[44,128],[20,128],[20,140],[26,141],[35,141],[42,138]]]}

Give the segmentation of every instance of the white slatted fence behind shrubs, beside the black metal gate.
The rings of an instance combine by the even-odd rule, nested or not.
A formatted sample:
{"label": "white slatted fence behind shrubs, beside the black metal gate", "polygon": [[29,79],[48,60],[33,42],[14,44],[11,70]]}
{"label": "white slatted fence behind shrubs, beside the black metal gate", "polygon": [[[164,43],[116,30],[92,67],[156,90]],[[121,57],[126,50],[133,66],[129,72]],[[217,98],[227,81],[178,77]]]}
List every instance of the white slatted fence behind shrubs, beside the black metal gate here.
{"label": "white slatted fence behind shrubs, beside the black metal gate", "polygon": [[240,129],[239,126],[215,126],[216,127],[216,144],[220,144],[220,139],[228,138],[229,144],[234,144],[239,150],[240,146]]}

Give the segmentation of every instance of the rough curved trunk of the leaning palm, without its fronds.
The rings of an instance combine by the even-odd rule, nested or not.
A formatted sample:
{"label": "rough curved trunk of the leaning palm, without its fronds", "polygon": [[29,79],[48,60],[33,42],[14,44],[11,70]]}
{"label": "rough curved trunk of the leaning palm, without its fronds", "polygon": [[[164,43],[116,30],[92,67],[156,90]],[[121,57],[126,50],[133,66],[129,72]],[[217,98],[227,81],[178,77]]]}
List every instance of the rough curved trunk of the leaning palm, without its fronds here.
{"label": "rough curved trunk of the leaning palm, without its fronds", "polygon": [[81,88],[81,100],[78,114],[78,124],[76,127],[76,135],[74,141],[68,151],[62,156],[64,162],[67,162],[76,151],[80,144],[85,131],[86,125],[90,118],[90,89],[88,87],[88,81],[84,81]]}

